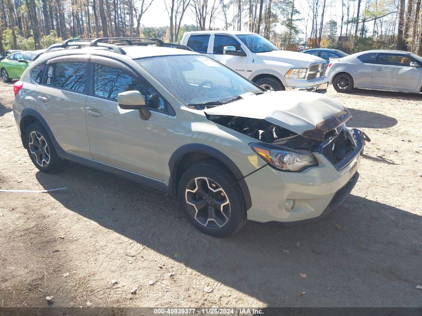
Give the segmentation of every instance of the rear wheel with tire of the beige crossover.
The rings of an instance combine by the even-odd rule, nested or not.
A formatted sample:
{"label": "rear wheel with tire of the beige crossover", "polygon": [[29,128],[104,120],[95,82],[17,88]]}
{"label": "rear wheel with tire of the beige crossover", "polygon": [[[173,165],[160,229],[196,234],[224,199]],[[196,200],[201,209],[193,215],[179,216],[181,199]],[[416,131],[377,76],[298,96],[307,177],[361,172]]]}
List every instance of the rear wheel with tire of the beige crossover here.
{"label": "rear wheel with tire of the beige crossover", "polygon": [[26,128],[24,139],[29,158],[39,171],[52,173],[64,168],[67,160],[61,159],[57,155],[53,143],[41,123],[30,124]]}

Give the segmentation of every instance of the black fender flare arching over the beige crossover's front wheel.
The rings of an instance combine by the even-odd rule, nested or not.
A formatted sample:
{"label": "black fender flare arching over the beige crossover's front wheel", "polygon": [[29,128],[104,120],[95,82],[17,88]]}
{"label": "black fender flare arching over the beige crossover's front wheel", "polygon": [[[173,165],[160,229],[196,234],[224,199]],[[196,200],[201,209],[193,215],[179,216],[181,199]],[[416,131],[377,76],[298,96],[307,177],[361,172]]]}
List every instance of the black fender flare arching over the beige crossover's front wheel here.
{"label": "black fender flare arching over the beige crossover's front wheel", "polygon": [[249,210],[252,207],[251,194],[249,192],[248,185],[245,181],[245,175],[240,171],[238,166],[229,157],[227,157],[218,149],[204,144],[186,144],[176,149],[171,155],[168,161],[168,167],[170,169],[168,192],[170,196],[175,196],[175,192],[173,191],[175,191],[174,187],[176,183],[173,182],[175,181],[174,176],[177,169],[177,165],[180,162],[181,158],[189,153],[207,154],[223,163],[230,170],[230,172],[233,173],[233,175],[239,182],[240,189],[242,190],[243,197],[245,199],[246,210]]}

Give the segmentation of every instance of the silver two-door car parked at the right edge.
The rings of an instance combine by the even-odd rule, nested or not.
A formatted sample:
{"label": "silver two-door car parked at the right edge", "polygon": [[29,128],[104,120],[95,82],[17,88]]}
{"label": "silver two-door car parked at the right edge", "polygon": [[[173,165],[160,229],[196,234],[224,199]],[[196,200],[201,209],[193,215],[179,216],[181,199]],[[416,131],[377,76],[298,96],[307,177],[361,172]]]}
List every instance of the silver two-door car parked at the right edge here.
{"label": "silver two-door car parked at the right edge", "polygon": [[422,57],[400,50],[367,50],[328,65],[328,77],[337,92],[367,88],[421,93]]}

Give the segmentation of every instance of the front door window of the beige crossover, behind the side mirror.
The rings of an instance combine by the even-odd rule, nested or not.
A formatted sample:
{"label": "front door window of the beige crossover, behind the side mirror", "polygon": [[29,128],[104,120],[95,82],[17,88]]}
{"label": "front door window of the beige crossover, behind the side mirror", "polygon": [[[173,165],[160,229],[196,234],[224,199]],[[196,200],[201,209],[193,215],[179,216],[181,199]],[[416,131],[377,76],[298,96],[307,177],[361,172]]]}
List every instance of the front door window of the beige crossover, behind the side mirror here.
{"label": "front door window of the beige crossover, behind the side mirror", "polygon": [[120,92],[137,90],[145,99],[147,107],[166,111],[164,98],[145,80],[136,80],[126,72],[110,66],[94,65],[94,95],[117,101]]}

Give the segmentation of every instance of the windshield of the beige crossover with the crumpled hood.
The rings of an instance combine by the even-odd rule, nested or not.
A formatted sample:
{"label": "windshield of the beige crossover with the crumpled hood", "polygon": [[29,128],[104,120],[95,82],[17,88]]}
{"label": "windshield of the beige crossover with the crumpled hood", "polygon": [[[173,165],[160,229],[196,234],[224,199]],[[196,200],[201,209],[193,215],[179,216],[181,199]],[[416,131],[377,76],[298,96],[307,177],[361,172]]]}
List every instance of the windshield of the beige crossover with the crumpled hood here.
{"label": "windshield of the beige crossover with the crumpled hood", "polygon": [[[185,105],[204,108],[262,90],[239,74],[203,55],[172,55],[136,59],[146,71]],[[202,104],[203,107],[197,105]]]}

